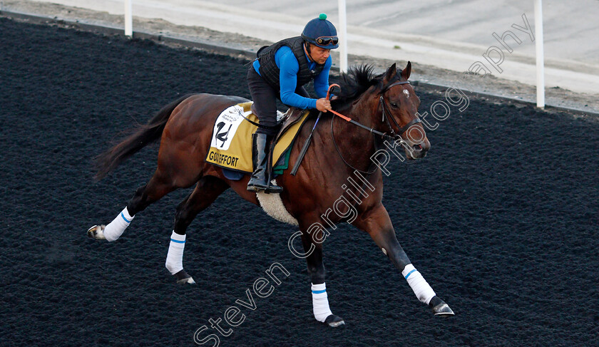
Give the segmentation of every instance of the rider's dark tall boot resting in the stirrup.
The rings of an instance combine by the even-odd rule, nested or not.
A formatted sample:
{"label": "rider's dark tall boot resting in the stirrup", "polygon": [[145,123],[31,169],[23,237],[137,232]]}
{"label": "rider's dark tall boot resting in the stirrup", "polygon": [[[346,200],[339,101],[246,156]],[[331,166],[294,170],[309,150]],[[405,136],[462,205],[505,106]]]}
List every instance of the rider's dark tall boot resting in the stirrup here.
{"label": "rider's dark tall boot resting in the stirrup", "polygon": [[282,187],[270,183],[270,170],[268,165],[268,155],[270,153],[270,140],[272,138],[266,134],[254,133],[252,135],[252,161],[254,163],[254,172],[247,182],[247,190],[250,192],[260,192],[264,190],[267,193],[280,193]]}

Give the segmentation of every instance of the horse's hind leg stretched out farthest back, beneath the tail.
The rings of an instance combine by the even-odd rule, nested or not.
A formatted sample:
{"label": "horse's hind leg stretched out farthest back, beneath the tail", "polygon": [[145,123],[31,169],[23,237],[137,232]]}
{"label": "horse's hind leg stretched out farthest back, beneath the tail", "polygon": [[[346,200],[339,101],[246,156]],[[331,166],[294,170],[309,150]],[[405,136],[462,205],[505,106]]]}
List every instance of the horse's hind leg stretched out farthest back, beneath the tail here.
{"label": "horse's hind leg stretched out farthest back, beneath the tail", "polygon": [[106,226],[94,225],[89,228],[88,237],[106,239],[108,242],[116,241],[125,232],[135,214],[143,211],[150,204],[160,200],[160,198],[177,188],[173,185],[172,180],[166,179],[164,175],[160,174],[160,170],[157,170],[150,182],[135,190],[135,194],[129,200],[127,206],[112,222]]}

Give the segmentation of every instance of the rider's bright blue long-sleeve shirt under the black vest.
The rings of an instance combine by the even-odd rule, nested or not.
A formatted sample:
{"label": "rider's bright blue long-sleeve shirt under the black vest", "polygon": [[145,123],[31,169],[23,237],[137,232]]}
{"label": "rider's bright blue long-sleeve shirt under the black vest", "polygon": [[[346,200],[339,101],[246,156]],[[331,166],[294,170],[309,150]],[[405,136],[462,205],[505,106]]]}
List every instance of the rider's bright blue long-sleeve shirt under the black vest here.
{"label": "rider's bright blue long-sleeve shirt under the black vest", "polygon": [[[295,93],[295,89],[297,88],[299,63],[291,51],[291,48],[282,46],[277,49],[275,52],[275,63],[280,69],[279,83],[281,86],[280,95],[282,103],[297,108],[316,108],[316,99],[304,98],[302,95]],[[308,64],[310,69],[316,68],[316,63],[309,59]],[[314,91],[319,98],[327,96],[327,90],[329,90],[329,71],[331,70],[331,66],[332,58],[329,56],[324,63],[322,71],[314,78]],[[254,61],[254,69],[260,74],[260,62],[257,59]]]}

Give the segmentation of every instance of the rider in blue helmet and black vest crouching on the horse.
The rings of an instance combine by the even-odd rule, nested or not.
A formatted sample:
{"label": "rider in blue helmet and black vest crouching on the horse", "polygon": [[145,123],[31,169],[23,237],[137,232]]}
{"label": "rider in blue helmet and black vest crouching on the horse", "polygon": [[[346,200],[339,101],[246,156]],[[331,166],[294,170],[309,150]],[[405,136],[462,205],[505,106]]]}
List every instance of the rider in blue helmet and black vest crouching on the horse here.
{"label": "rider in blue helmet and black vest crouching on the horse", "polygon": [[[252,135],[254,172],[247,183],[250,192],[283,190],[277,185],[269,186],[268,154],[277,133],[277,98],[296,108],[322,112],[331,109],[326,99],[332,65],[330,51],[339,47],[338,42],[337,30],[327,21],[326,14],[320,14],[306,24],[302,36],[285,38],[258,51],[258,58],[247,72],[247,85],[261,125]],[[318,99],[310,98],[303,87],[312,79]]]}

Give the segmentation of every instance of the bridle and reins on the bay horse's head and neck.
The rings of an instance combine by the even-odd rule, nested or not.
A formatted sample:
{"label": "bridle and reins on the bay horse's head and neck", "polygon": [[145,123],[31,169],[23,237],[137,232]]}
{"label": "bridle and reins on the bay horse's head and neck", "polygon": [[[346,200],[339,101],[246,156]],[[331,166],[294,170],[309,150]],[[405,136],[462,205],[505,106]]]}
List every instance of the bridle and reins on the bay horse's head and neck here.
{"label": "bridle and reins on the bay horse's head and neck", "polygon": [[[379,135],[381,138],[384,138],[386,140],[391,140],[394,143],[397,143],[399,145],[405,145],[407,143],[406,143],[406,141],[403,138],[401,138],[401,135],[403,133],[405,133],[407,130],[409,130],[409,128],[412,125],[414,125],[416,123],[421,123],[421,119],[420,119],[420,117],[418,117],[416,115],[416,118],[414,118],[413,120],[410,120],[409,123],[407,123],[406,125],[404,125],[403,127],[401,127],[396,122],[396,120],[393,117],[389,117],[389,115],[391,114],[391,112],[389,112],[389,108],[387,108],[387,105],[386,105],[386,102],[385,102],[385,99],[384,99],[384,93],[386,93],[387,91],[389,91],[389,89],[391,89],[392,87],[399,86],[401,84],[410,84],[410,82],[409,81],[397,81],[395,83],[391,83],[388,86],[382,88],[382,90],[379,92],[381,94],[381,96],[379,97],[379,105],[377,106],[377,110],[379,110],[379,108],[382,109],[382,111],[381,111],[382,112],[382,120],[389,127],[389,134],[382,133],[379,130],[367,127],[366,125],[364,125],[362,123],[359,123],[359,122],[357,122],[357,121],[353,120],[352,118],[349,118],[349,117],[347,117],[345,115],[342,115],[341,113],[338,113],[337,111],[329,110],[329,112],[332,112],[334,115],[338,115],[340,118],[346,120],[349,123],[357,125],[359,128],[368,130],[373,135]],[[387,113],[389,113],[389,115],[387,115]],[[395,130],[391,126],[391,123],[389,122],[389,118],[394,123],[394,125],[396,126],[396,128],[398,128],[397,133],[395,132]],[[334,136],[334,133],[333,133],[333,121],[334,121],[334,118],[331,120],[331,137],[333,139],[333,145],[335,147],[335,150],[337,150],[337,154],[339,154],[339,157],[341,158],[341,160],[343,160],[343,162],[345,163],[345,165],[347,165],[348,167],[351,167],[353,170],[357,170],[357,171],[362,172],[362,173],[364,173],[366,175],[371,175],[374,172],[376,172],[377,169],[378,169],[378,167],[374,167],[374,169],[372,171],[359,170],[359,169],[353,167],[351,164],[349,164],[349,162],[347,162],[347,160],[345,160],[345,158],[341,154],[341,151],[339,151],[339,147],[337,147],[337,142],[335,141],[335,136]]]}

